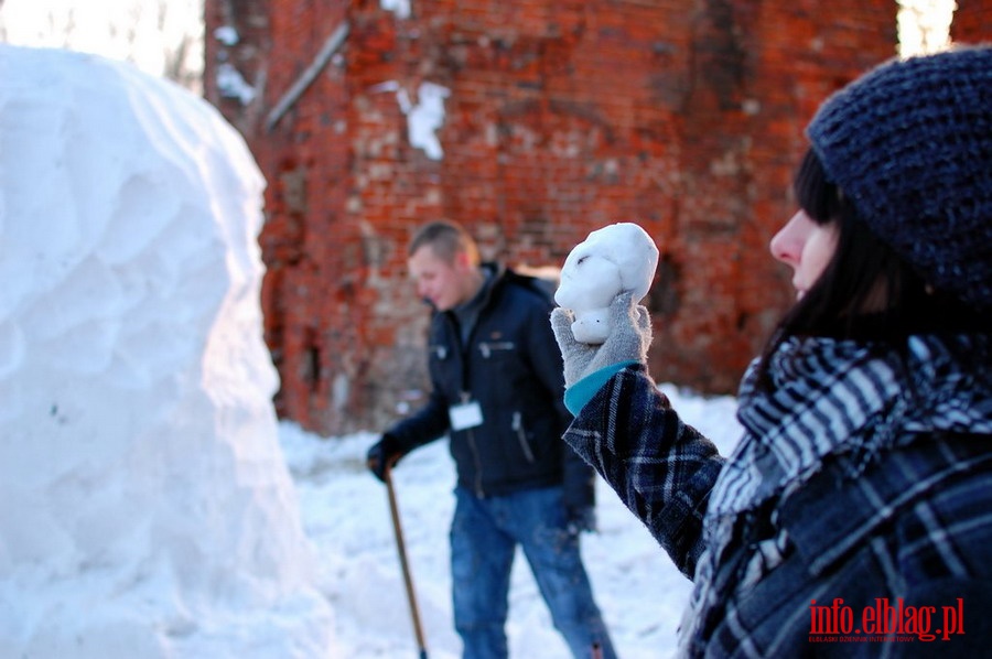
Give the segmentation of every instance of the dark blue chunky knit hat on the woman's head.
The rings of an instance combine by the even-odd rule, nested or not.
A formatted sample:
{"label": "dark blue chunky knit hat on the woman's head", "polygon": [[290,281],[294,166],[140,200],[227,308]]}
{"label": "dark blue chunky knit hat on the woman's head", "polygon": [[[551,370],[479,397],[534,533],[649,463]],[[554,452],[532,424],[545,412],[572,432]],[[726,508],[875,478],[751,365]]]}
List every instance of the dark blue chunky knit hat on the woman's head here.
{"label": "dark blue chunky knit hat on the woman's head", "polygon": [[828,98],[807,134],[882,240],[992,310],[992,46],[887,62]]}

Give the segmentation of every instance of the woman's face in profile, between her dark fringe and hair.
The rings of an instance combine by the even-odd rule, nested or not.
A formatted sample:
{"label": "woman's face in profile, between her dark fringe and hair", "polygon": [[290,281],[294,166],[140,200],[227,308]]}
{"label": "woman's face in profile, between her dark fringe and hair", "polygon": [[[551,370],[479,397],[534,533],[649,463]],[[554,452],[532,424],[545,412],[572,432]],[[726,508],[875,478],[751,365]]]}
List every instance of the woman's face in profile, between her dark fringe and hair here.
{"label": "woman's face in profile, between her dark fringe and hair", "polygon": [[837,250],[837,223],[819,225],[799,210],[772,238],[772,256],[792,269],[796,299],[820,279]]}

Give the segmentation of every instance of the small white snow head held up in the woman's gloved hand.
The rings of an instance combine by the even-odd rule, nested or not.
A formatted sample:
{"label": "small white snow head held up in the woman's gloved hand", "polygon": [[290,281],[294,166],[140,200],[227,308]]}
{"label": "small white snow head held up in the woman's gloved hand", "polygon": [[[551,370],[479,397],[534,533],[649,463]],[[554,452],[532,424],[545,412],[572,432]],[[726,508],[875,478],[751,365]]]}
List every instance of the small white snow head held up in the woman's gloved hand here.
{"label": "small white snow head held up in the woman's gloved hand", "polygon": [[647,231],[633,223],[597,229],[572,249],[561,269],[554,301],[575,314],[575,341],[599,345],[610,335],[610,303],[630,291],[647,295],[658,267],[658,248]]}

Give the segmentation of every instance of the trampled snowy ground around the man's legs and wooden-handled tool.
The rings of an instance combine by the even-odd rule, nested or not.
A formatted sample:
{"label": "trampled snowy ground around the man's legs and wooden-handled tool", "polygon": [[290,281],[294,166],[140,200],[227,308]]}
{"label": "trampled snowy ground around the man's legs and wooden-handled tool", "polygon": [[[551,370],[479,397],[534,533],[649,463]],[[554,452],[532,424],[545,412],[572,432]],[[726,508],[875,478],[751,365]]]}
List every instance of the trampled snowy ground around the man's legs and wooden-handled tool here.
{"label": "trampled snowy ground around the man's legs and wooden-handled tool", "polygon": [[[662,389],[688,423],[721,453],[730,451],[740,433],[732,398]],[[295,424],[280,425],[342,657],[416,657],[386,488],[364,466],[376,439],[364,433],[323,440]],[[448,570],[454,472],[446,442],[407,456],[393,480],[428,651],[432,659],[459,657]],[[617,651],[625,659],[670,656],[690,583],[602,482],[597,496],[600,531],[583,537],[583,555]],[[515,563],[507,631],[514,657],[569,657],[522,557]]]}

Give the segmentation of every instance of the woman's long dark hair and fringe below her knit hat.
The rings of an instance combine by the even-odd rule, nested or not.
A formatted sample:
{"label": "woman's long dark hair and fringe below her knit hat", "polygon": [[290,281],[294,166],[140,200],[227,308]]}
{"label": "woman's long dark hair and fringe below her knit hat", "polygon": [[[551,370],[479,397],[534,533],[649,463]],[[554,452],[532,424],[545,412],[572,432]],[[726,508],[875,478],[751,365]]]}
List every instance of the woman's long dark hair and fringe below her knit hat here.
{"label": "woman's long dark hair and fringe below her knit hat", "polygon": [[766,344],[761,366],[766,383],[769,357],[794,336],[829,336],[902,349],[913,334],[988,331],[988,318],[956,296],[932,290],[869,229],[843,191],[828,180],[811,148],[792,188],[799,207],[813,222],[837,223],[837,250]]}

